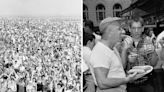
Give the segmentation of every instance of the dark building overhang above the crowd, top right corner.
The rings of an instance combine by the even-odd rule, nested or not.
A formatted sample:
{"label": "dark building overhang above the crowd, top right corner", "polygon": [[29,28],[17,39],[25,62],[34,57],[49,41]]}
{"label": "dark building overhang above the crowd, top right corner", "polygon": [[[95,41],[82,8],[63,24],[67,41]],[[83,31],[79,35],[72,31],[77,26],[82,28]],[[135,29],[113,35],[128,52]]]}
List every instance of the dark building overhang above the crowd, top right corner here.
{"label": "dark building overhang above the crowd, top right corner", "polygon": [[122,10],[120,15],[131,13],[140,16],[145,21],[145,27],[154,28],[158,35],[164,30],[164,0],[131,0],[131,5]]}

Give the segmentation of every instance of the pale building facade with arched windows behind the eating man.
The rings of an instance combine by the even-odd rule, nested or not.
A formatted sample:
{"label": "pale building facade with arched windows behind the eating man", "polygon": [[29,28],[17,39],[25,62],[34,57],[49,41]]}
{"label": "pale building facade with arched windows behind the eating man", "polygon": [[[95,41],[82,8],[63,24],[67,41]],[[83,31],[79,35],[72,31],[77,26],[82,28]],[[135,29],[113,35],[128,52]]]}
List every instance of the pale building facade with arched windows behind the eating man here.
{"label": "pale building facade with arched windows behind the eating man", "polygon": [[83,0],[83,20],[89,19],[98,26],[100,21],[106,17],[129,18],[131,12],[120,12],[128,8],[134,0]]}

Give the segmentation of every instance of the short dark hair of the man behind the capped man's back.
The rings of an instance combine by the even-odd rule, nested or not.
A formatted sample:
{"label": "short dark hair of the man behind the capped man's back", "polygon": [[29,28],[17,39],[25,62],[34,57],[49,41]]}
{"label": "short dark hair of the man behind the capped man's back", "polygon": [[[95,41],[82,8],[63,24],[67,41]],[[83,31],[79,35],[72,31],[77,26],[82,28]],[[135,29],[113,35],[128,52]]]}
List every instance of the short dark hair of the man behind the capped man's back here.
{"label": "short dark hair of the man behind the capped man's back", "polygon": [[95,36],[91,33],[86,33],[83,31],[83,46],[87,45],[88,41],[93,41]]}

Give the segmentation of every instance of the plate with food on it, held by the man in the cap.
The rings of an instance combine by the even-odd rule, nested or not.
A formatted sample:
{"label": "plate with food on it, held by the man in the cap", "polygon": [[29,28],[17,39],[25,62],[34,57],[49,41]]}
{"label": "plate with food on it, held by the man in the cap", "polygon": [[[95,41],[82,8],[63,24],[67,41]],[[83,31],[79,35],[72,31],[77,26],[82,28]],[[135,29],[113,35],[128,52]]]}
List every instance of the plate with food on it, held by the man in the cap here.
{"label": "plate with food on it, held by the man in the cap", "polygon": [[134,66],[132,69],[130,69],[127,73],[132,74],[137,72],[136,78],[139,79],[146,74],[150,73],[153,70],[153,67],[150,65],[145,66]]}

